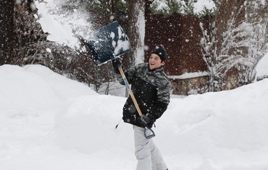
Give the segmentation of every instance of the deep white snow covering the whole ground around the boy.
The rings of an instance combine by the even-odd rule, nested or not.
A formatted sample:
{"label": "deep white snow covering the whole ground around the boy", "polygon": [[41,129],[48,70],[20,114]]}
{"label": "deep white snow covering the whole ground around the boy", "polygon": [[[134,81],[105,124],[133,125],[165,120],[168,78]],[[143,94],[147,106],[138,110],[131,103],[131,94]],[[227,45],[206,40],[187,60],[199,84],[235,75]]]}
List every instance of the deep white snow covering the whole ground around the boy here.
{"label": "deep white snow covering the whole ground around the boy", "polygon": [[[1,170],[133,170],[125,98],[95,93],[41,65],[0,66]],[[172,98],[155,143],[168,169],[267,170],[268,79]]]}

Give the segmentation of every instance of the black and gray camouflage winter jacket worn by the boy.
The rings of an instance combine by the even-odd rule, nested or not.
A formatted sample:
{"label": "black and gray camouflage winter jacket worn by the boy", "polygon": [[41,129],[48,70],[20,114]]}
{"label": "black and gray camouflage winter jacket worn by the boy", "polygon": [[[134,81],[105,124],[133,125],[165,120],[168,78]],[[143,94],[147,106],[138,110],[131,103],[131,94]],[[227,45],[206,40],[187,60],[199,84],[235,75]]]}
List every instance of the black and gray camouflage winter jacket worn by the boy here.
{"label": "black and gray camouflage winter jacket worn by the boy", "polygon": [[[170,101],[172,88],[164,69],[160,67],[150,71],[148,63],[141,63],[124,71],[124,73],[128,83],[132,85],[132,92],[141,112],[151,114],[153,121],[161,117]],[[119,81],[125,85],[121,76],[119,76]],[[129,96],[123,108],[123,120],[126,123],[144,127],[137,121],[138,117],[139,113]],[[152,124],[149,127],[152,127]]]}

